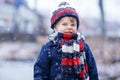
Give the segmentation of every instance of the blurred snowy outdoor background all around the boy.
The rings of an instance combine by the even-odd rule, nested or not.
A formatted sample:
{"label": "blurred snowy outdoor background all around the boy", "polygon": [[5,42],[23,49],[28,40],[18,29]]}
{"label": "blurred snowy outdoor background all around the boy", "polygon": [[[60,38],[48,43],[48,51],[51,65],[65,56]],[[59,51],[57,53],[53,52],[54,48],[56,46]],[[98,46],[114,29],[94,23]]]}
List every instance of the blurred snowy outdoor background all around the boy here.
{"label": "blurred snowy outdoor background all around the boy", "polygon": [[[0,0],[0,80],[33,80],[33,65],[64,0]],[[100,80],[120,80],[120,0],[66,0],[79,13],[79,32],[95,57]]]}

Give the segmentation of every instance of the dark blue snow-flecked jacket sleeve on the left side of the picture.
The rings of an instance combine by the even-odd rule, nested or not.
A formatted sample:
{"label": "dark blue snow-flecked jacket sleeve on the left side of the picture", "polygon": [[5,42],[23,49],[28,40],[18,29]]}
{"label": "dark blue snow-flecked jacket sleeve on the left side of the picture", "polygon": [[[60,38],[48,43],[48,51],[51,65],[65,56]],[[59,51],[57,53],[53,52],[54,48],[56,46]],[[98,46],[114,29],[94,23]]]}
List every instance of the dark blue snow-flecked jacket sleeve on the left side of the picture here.
{"label": "dark blue snow-flecked jacket sleeve on the left side of the picture", "polygon": [[34,80],[49,80],[49,67],[47,49],[43,46],[34,64]]}

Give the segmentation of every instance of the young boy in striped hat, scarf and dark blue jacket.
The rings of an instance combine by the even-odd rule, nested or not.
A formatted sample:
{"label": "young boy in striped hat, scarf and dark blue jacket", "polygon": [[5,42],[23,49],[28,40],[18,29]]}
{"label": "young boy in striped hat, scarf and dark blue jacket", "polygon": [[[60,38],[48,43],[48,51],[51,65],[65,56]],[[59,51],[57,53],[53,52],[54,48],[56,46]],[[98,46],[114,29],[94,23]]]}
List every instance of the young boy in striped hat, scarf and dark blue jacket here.
{"label": "young boy in striped hat, scarf and dark blue jacket", "polygon": [[53,12],[54,33],[34,65],[34,80],[98,80],[94,57],[78,27],[76,10],[62,2]]}

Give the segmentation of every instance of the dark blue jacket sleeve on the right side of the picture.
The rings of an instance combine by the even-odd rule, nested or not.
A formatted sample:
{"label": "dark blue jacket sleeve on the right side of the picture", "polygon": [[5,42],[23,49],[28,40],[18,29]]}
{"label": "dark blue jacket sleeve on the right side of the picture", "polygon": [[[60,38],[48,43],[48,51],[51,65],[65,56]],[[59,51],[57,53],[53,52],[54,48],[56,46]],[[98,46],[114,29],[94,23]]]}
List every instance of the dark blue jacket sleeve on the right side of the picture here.
{"label": "dark blue jacket sleeve on the right side of the picture", "polygon": [[85,44],[86,47],[86,60],[88,64],[88,75],[89,75],[89,80],[99,80],[98,79],[98,71],[97,71],[97,66],[95,59],[93,57],[93,54],[87,44]]}

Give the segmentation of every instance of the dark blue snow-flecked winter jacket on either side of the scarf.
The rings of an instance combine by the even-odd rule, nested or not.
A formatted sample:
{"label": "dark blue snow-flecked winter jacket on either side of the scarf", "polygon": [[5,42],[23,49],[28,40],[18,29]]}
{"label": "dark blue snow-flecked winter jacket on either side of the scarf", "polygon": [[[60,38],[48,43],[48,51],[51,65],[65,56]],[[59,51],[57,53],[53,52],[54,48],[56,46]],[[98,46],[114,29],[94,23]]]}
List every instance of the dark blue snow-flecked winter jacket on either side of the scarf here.
{"label": "dark blue snow-flecked winter jacket on either side of the scarf", "polygon": [[[59,50],[60,47],[56,46],[52,41],[42,47],[34,65],[34,80],[81,80],[76,74],[64,75],[61,72],[62,56]],[[84,50],[86,52],[89,80],[98,80],[96,63],[86,43]]]}

